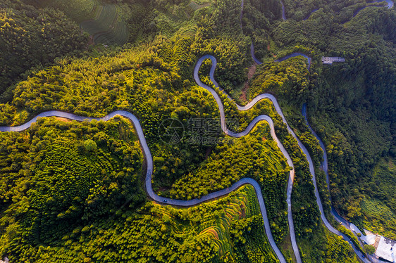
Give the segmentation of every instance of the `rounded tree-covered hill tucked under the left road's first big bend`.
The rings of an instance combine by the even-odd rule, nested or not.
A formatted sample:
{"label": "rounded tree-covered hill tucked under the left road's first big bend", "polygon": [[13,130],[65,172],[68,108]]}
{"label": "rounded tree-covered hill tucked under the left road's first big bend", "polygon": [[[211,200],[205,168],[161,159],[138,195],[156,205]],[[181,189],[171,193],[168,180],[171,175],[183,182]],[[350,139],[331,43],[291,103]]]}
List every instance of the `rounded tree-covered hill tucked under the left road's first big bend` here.
{"label": "rounded tree-covered hill tucked under the left road's first big bend", "polygon": [[0,226],[8,240],[1,254],[18,255],[25,242],[57,242],[126,201],[133,207],[144,200],[142,153],[126,120],[41,118],[28,131],[0,133],[0,139]]}

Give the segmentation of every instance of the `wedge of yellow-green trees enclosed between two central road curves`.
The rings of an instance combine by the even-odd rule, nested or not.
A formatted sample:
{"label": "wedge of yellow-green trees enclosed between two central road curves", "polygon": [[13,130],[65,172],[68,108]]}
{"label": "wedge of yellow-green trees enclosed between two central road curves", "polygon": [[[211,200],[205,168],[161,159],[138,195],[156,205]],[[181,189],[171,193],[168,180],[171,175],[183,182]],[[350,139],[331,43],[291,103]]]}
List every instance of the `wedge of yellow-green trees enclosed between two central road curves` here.
{"label": "wedge of yellow-green trees enclosed between two central road curves", "polygon": [[251,134],[217,146],[196,172],[176,181],[169,193],[177,199],[199,198],[243,177],[252,177],[264,186],[264,191],[268,188],[269,192],[283,196],[288,170],[285,158],[269,134],[268,124],[263,122]]}

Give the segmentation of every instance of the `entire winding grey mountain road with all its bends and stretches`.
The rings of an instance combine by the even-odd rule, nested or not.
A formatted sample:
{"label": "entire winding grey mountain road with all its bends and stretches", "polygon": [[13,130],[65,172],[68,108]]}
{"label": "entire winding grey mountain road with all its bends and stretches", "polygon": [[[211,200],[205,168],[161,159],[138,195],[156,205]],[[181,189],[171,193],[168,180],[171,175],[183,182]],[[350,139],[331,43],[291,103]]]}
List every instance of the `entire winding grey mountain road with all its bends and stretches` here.
{"label": "entire winding grey mountain road with all its bends and stretches", "polygon": [[[388,0],[390,1],[390,0]],[[281,2],[282,3],[282,2]],[[242,1],[242,8],[243,8],[243,1]],[[282,9],[283,9],[283,20],[285,20],[285,7],[282,3]],[[241,12],[241,20],[242,20],[242,12]],[[254,60],[255,63],[257,64],[261,64],[261,62],[254,56],[254,46],[253,44],[251,45],[251,54],[252,54],[252,58]],[[292,53],[289,56],[286,56],[285,58],[280,58],[278,60],[275,60],[276,62],[280,62],[283,60],[286,60],[288,58],[292,58],[295,56],[304,56],[304,58],[307,58],[308,60],[308,70],[311,66],[311,58],[309,58],[307,55],[304,55],[303,53]],[[294,170],[294,165],[292,163],[292,160],[290,158],[290,155],[287,153],[287,151],[285,150],[285,148],[283,147],[282,143],[280,143],[278,137],[275,134],[275,129],[273,127],[273,121],[271,120],[271,117],[268,117],[267,115],[259,115],[257,117],[254,118],[254,120],[252,120],[252,122],[248,125],[248,127],[245,129],[245,131],[241,131],[239,133],[235,133],[233,131],[230,131],[229,129],[227,129],[227,125],[225,123],[225,113],[224,113],[224,108],[223,108],[223,103],[221,101],[220,96],[218,96],[218,94],[216,93],[216,91],[214,89],[212,89],[211,87],[207,86],[206,84],[202,83],[201,80],[199,79],[199,68],[201,67],[202,63],[204,60],[206,59],[210,59],[211,60],[211,70],[209,73],[209,76],[211,78],[211,81],[214,83],[214,85],[216,87],[218,87],[219,89],[221,89],[221,87],[218,85],[218,83],[216,82],[216,79],[214,79],[214,71],[216,70],[216,65],[217,65],[217,61],[216,58],[214,58],[214,56],[210,56],[210,55],[206,55],[206,56],[202,56],[201,58],[199,58],[197,65],[195,65],[194,68],[194,79],[197,82],[197,84],[199,86],[201,86],[202,88],[206,89],[207,91],[209,91],[212,96],[214,96],[216,103],[218,104],[218,109],[220,112],[220,117],[221,117],[221,129],[225,132],[225,134],[228,134],[228,136],[233,136],[233,137],[241,137],[241,136],[246,136],[247,134],[249,134],[250,131],[252,131],[252,129],[254,128],[254,126],[261,121],[266,121],[268,122],[270,128],[271,128],[271,136],[273,137],[273,140],[276,141],[276,143],[278,144],[278,147],[280,148],[280,150],[282,151],[283,155],[285,155],[285,158],[287,159],[287,164],[292,167],[292,170],[290,170],[290,177],[287,183],[287,219],[288,219],[288,223],[289,223],[289,229],[290,229],[290,239],[292,241],[292,249],[293,252],[295,254],[295,257],[297,259],[297,263],[301,263],[302,259],[299,255],[299,250],[298,250],[298,246],[297,246],[297,241],[295,239],[295,228],[294,228],[294,223],[293,223],[293,219],[292,219],[292,206],[291,206],[291,196],[292,196],[292,185],[293,185],[293,181],[295,178],[295,170]],[[222,92],[225,93],[225,91],[223,91],[221,89]],[[230,96],[228,94],[226,94],[228,96],[228,98],[233,101],[232,98],[230,98]],[[342,236],[345,240],[347,240],[349,243],[351,243],[352,248],[354,248],[355,253],[357,254],[357,256],[363,261],[363,262],[367,262],[369,263],[369,260],[366,259],[364,257],[364,255],[362,255],[362,253],[357,250],[357,248],[352,244],[351,240],[349,240],[349,238],[347,236],[345,236],[343,233],[341,233],[340,231],[338,231],[337,229],[335,229],[333,226],[331,226],[331,224],[328,222],[328,220],[326,219],[326,217],[324,216],[324,212],[323,212],[323,205],[321,203],[321,199],[318,193],[318,188],[316,186],[316,177],[315,177],[315,171],[314,171],[314,165],[313,162],[311,160],[311,156],[308,153],[307,148],[305,148],[305,146],[302,144],[301,141],[299,141],[298,137],[296,136],[295,132],[290,128],[290,126],[287,124],[287,121],[285,119],[285,116],[283,115],[282,110],[280,109],[280,106],[278,104],[278,101],[276,100],[276,98],[271,95],[271,94],[260,94],[259,96],[256,96],[256,98],[254,98],[252,101],[250,101],[247,105],[245,106],[241,106],[238,105],[237,103],[235,103],[237,105],[237,109],[238,110],[249,110],[250,108],[252,108],[254,105],[256,105],[256,103],[258,103],[259,101],[263,100],[263,99],[269,99],[272,101],[274,107],[276,108],[276,112],[280,115],[280,117],[282,117],[283,122],[286,124],[287,126],[287,130],[289,131],[289,133],[297,140],[297,143],[299,145],[299,147],[302,149],[303,153],[307,156],[307,160],[309,162],[309,171],[312,174],[312,180],[314,182],[314,187],[315,187],[315,197],[316,197],[316,203],[319,207],[319,210],[321,212],[321,219],[323,221],[323,224],[325,224],[325,226],[333,233]],[[233,184],[232,186],[225,188],[221,191],[216,191],[214,193],[209,193],[208,195],[204,195],[202,198],[196,198],[196,199],[192,199],[192,200],[175,200],[175,199],[171,199],[171,198],[163,198],[160,197],[159,195],[156,195],[156,193],[154,193],[153,189],[152,189],[152,185],[151,185],[151,177],[152,177],[152,172],[153,172],[153,159],[151,156],[151,152],[149,150],[149,147],[147,145],[147,141],[144,137],[144,132],[142,130],[142,127],[140,125],[139,120],[137,119],[137,117],[135,115],[133,115],[132,113],[129,113],[128,111],[125,110],[117,110],[114,111],[113,113],[110,113],[109,115],[106,115],[104,117],[83,117],[83,116],[79,116],[79,115],[74,115],[72,113],[65,113],[62,111],[58,111],[58,110],[49,110],[47,112],[44,113],[40,113],[39,115],[35,116],[32,118],[32,120],[30,120],[29,122],[26,122],[23,125],[17,126],[17,127],[0,127],[0,131],[24,131],[25,129],[28,129],[29,127],[31,127],[31,125],[37,121],[37,118],[39,117],[51,117],[51,116],[55,116],[55,117],[63,117],[63,118],[67,118],[70,120],[77,120],[77,121],[83,121],[83,120],[103,120],[103,121],[108,121],[111,120],[113,117],[115,117],[116,115],[120,115],[123,117],[128,118],[129,120],[132,121],[132,123],[135,126],[135,129],[137,131],[137,136],[139,137],[140,140],[140,144],[142,146],[142,150],[143,153],[145,155],[146,161],[147,161],[147,172],[146,172],[146,178],[145,178],[145,186],[146,186],[146,190],[147,190],[147,194],[149,195],[149,197],[153,200],[155,200],[158,203],[161,203],[163,205],[177,205],[180,207],[190,207],[193,205],[198,205],[199,203],[203,203],[205,201],[208,200],[212,200],[214,198],[218,198],[221,197],[223,195],[227,195],[228,193],[235,191],[235,189],[239,188],[240,186],[244,185],[244,184],[250,184],[254,187],[255,191],[256,191],[256,195],[257,195],[257,199],[259,201],[259,205],[260,205],[260,210],[261,210],[261,216],[263,217],[264,220],[264,226],[265,226],[265,230],[266,230],[266,235],[268,237],[268,241],[271,245],[271,247],[273,248],[273,251],[276,253],[276,256],[278,257],[279,261],[282,263],[286,263],[285,257],[283,257],[282,253],[280,252],[278,246],[275,243],[275,240],[273,239],[272,233],[271,233],[271,228],[270,228],[270,224],[268,222],[268,217],[266,214],[266,206],[264,204],[264,199],[262,197],[261,194],[261,188],[259,186],[259,184],[251,178],[244,178],[244,179],[240,179],[240,181],[237,181],[237,183]],[[308,121],[307,121],[307,114],[306,114],[306,108],[303,108],[303,115],[306,119],[307,124],[309,125]],[[309,128],[311,129],[311,127],[309,126]],[[326,155],[326,149],[324,148],[323,142],[321,141],[321,139],[318,138],[317,134],[313,131],[313,129],[311,129],[311,132],[314,134],[314,136],[316,136],[316,138],[319,140],[319,142],[321,143],[321,147],[323,148],[323,152],[325,153],[324,155],[324,161],[323,161],[323,170],[326,172],[326,181],[328,182],[329,185],[329,179],[328,179],[328,165],[327,165],[327,155]],[[341,222],[342,224],[348,225],[349,226],[349,222],[347,222],[345,219],[343,219],[342,217],[340,217],[340,215],[334,210],[334,208],[332,207],[332,214],[335,217],[335,219],[338,222]]]}

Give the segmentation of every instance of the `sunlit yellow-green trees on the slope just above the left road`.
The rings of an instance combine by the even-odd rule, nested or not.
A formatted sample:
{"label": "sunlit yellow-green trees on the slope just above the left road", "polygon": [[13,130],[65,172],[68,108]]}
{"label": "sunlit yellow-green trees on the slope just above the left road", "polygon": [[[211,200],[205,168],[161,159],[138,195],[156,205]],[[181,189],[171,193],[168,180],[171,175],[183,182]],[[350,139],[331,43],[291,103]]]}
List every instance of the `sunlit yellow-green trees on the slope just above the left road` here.
{"label": "sunlit yellow-green trees on the slope just above the left road", "polygon": [[[10,104],[23,106],[28,112],[56,108],[73,110],[78,115],[89,115],[87,112],[94,108],[102,115],[113,108],[128,108],[128,91],[135,92],[137,86],[161,90],[180,79],[178,75],[171,75],[171,67],[154,53],[142,49],[124,51],[117,56],[102,54],[99,58],[59,60],[54,67],[36,72],[27,82],[20,82],[15,89],[16,104]],[[0,104],[2,107],[11,110]],[[108,110],[104,110],[106,108]],[[94,115],[98,116],[97,113]]]}

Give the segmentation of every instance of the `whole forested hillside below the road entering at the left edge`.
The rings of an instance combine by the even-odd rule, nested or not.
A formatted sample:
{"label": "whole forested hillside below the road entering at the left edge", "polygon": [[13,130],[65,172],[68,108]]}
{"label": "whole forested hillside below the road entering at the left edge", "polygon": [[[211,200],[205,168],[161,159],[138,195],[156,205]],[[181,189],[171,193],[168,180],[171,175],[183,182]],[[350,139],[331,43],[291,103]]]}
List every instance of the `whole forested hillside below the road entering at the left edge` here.
{"label": "whole forested hillside below the road entering at the left edge", "polygon": [[156,205],[142,190],[136,140],[118,118],[41,119],[2,133],[1,254],[11,262],[276,262],[251,186],[188,210]]}

